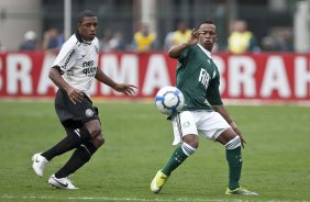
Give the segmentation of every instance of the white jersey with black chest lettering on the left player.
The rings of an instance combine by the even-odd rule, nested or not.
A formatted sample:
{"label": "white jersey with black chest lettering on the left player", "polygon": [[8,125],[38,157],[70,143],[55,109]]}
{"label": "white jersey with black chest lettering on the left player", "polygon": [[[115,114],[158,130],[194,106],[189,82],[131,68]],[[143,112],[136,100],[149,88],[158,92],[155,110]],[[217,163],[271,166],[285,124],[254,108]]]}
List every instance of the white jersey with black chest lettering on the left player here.
{"label": "white jersey with black chest lettering on the left player", "polygon": [[76,33],[63,45],[53,67],[60,67],[65,81],[89,97],[98,68],[98,38],[86,42]]}

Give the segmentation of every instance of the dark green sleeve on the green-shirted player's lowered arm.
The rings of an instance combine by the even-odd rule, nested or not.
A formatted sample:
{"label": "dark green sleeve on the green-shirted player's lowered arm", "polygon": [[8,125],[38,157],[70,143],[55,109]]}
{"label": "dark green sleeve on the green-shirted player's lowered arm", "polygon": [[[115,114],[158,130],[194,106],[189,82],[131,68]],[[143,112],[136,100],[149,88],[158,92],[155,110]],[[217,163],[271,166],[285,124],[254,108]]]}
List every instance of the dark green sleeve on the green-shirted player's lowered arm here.
{"label": "dark green sleeve on the green-shirted player's lowered arm", "polygon": [[220,78],[212,80],[212,82],[209,85],[207,90],[207,101],[211,105],[223,105],[221,94],[220,94]]}

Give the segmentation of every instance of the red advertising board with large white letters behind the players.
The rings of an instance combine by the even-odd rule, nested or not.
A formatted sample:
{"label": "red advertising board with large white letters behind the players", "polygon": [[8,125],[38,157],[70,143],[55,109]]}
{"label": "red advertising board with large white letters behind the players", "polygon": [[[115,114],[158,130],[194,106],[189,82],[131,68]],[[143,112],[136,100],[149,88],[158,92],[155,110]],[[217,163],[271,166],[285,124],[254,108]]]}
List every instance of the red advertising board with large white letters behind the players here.
{"label": "red advertising board with large white letters behind the players", "polygon": [[[221,74],[224,99],[310,100],[310,54],[255,54],[212,56]],[[55,55],[0,53],[0,98],[53,98],[56,87],[48,78]],[[119,82],[139,87],[132,99],[152,98],[164,86],[174,86],[177,61],[166,54],[100,54],[100,68]],[[92,97],[123,98],[95,82]]]}

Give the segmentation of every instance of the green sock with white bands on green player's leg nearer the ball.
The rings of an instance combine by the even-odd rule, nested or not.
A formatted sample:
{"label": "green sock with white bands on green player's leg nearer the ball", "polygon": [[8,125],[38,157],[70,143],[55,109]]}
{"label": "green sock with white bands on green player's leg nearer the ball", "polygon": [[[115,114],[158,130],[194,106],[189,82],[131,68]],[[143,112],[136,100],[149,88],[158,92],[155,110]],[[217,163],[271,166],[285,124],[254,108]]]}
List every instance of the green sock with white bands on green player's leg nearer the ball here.
{"label": "green sock with white bands on green player's leg nearer the ball", "polygon": [[[187,149],[187,152],[189,153],[188,154],[184,153],[182,147]],[[189,155],[193,154],[195,150],[196,150],[195,148],[192,150],[192,147],[189,148],[184,144],[178,146],[174,152],[174,154],[171,155],[170,159],[168,160],[167,165],[162,169],[162,171],[166,176],[170,176],[171,171],[174,171],[179,165],[181,165]]]}

